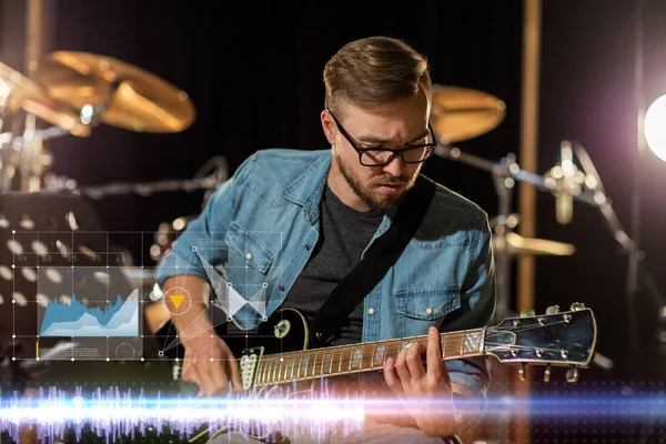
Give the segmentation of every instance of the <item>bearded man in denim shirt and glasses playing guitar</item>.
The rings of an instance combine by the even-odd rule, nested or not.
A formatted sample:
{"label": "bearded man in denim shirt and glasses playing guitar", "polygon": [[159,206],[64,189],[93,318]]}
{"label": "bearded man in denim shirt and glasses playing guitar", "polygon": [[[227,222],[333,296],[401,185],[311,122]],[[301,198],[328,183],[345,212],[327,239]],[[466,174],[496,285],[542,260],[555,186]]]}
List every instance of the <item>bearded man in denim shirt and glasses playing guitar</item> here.
{"label": "bearded man in denim shirt and glasses playing guitar", "polygon": [[[159,266],[162,291],[178,287],[192,300],[173,322],[185,349],[182,379],[201,395],[230,383],[240,389],[236,356],[201,316],[205,266],[221,270],[246,300],[264,291],[266,315],[283,306],[313,315],[390,229],[436,147],[427,62],[404,42],[375,37],[346,44],[327,62],[324,83],[321,122],[331,150],[251,155]],[[436,185],[414,238],[330,342],[428,334],[427,352],[414,343],[387,357],[380,375],[410,426],[369,422],[364,443],[442,442],[478,417],[486,362],[443,363],[438,332],[483,327],[494,306],[487,215]],[[233,317],[243,329],[262,322],[250,305]],[[470,408],[465,400],[482,402]]]}

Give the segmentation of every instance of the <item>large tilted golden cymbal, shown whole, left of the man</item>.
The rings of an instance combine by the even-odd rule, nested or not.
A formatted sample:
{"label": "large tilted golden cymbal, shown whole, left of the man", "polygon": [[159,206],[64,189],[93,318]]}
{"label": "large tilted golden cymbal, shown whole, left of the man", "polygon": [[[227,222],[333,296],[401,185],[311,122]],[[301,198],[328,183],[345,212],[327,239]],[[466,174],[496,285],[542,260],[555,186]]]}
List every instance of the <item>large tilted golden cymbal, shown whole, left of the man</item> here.
{"label": "large tilted golden cymbal, shown whole, left of the man", "polygon": [[99,107],[99,119],[112,127],[174,133],[194,121],[194,105],[184,91],[110,57],[53,52],[39,63],[34,78],[53,100],[77,110]]}

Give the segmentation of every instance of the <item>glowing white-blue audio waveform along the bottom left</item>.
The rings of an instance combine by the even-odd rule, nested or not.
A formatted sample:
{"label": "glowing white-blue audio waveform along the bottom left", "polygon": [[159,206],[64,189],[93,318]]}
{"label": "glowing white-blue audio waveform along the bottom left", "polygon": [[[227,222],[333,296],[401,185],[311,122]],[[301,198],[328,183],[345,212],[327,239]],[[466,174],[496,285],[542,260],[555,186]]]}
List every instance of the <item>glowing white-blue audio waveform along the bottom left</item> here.
{"label": "glowing white-blue audio waveform along the bottom left", "polygon": [[[316,414],[312,413],[313,408]],[[72,427],[80,437],[83,428],[90,426],[99,436],[107,436],[110,443],[137,428],[147,432],[169,426],[184,438],[198,433],[211,436],[229,427],[249,432],[250,424],[280,427],[294,437],[310,434],[314,441],[320,441],[332,427],[340,428],[344,435],[357,432],[364,420],[362,400],[332,398],[325,391],[315,391],[304,398],[234,395],[191,398],[161,394],[149,397],[143,390],[133,393],[119,389],[98,389],[88,394],[77,389],[72,396],[58,387],[41,387],[30,397],[21,397],[18,393],[4,400],[0,397],[0,431],[8,431],[17,442],[24,426],[37,426],[38,438],[42,442],[53,442]],[[202,427],[205,428],[202,431]]]}

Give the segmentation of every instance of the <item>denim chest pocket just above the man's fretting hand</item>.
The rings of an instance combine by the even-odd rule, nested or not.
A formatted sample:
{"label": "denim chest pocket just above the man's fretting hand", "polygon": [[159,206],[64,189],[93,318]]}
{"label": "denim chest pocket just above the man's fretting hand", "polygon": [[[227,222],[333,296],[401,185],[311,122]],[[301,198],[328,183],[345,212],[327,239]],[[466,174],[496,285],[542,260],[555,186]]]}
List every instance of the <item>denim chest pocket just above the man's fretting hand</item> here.
{"label": "denim chest pocket just above the man's fretting hand", "polygon": [[457,286],[402,290],[395,293],[400,334],[403,337],[427,334],[431,325],[440,327],[444,316],[461,307]]}

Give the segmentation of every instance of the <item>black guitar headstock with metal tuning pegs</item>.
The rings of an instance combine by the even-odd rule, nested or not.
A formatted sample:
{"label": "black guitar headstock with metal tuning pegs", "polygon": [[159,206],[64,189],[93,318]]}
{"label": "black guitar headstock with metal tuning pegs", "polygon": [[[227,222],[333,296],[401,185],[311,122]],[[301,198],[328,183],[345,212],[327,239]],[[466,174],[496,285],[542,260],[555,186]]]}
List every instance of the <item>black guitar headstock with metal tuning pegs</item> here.
{"label": "black guitar headstock with metal tuning pegs", "polygon": [[596,346],[596,321],[592,310],[574,302],[571,311],[559,312],[549,306],[545,314],[535,315],[533,310],[523,311],[521,317],[507,317],[501,324],[488,327],[485,352],[500,362],[525,365],[546,365],[544,381],[551,377],[551,366],[571,366],[567,381],[576,382],[578,367],[586,367]]}

